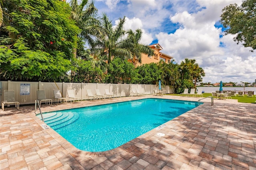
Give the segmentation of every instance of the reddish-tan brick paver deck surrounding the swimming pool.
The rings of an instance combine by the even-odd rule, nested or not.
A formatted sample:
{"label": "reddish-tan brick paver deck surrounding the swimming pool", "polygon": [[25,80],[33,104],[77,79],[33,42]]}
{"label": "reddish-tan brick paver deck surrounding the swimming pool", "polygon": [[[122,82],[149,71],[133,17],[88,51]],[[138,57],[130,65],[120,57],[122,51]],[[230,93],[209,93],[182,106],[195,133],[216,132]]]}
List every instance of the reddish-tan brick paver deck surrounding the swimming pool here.
{"label": "reddish-tan brick paver deck surrounding the swimming pool", "polygon": [[[42,112],[148,97],[200,99],[171,95],[121,97],[42,105]],[[214,99],[214,106],[204,103],[168,121],[165,127],[106,152],[78,150],[42,124],[34,106],[0,111],[1,170],[256,170],[256,105],[232,99]]]}

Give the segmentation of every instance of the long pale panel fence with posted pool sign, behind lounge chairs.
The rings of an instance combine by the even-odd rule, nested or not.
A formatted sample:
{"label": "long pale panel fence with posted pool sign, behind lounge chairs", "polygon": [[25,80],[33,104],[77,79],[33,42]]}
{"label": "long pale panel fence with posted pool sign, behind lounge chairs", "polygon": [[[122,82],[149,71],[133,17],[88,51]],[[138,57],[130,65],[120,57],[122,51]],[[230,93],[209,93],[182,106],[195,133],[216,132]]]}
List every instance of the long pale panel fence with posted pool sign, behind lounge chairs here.
{"label": "long pale panel fence with posted pool sign, behind lounge chairs", "polygon": [[[154,90],[158,91],[158,85],[0,81],[0,102],[4,100],[4,90],[14,90],[16,101],[20,102],[20,105],[26,105],[35,103],[37,89],[44,89],[47,99],[54,97],[53,89],[60,89],[63,97],[67,96],[67,89],[74,89],[76,97],[87,100],[86,89],[91,89],[93,94],[95,94],[95,89],[100,89],[102,94],[105,93],[105,89],[108,89],[110,93],[114,94],[114,97],[125,97],[133,95],[132,88],[144,92],[145,95],[153,94]],[[172,86],[162,85],[162,90],[166,90],[166,93],[174,93]]]}

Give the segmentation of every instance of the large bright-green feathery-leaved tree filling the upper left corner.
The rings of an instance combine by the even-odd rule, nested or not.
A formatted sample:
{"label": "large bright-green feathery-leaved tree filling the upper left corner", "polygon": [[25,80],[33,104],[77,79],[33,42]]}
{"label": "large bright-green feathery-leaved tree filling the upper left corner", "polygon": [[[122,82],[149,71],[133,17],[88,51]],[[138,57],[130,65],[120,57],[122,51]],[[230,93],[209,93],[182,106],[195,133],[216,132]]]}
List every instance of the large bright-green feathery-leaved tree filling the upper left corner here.
{"label": "large bright-green feathery-leaved tree filling the upper left corner", "polygon": [[2,0],[0,75],[6,80],[62,81],[79,33],[71,9],[56,0]]}

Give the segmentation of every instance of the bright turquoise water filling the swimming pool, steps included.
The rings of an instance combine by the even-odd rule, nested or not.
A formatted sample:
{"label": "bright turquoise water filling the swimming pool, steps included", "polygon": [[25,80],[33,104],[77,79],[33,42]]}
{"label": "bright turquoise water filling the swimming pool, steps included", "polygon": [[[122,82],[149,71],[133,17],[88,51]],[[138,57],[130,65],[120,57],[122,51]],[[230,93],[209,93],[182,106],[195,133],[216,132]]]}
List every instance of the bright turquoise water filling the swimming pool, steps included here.
{"label": "bright turquoise water filling the swimming pool, steps included", "polygon": [[198,105],[190,101],[142,99],[43,115],[45,123],[76,148],[100,152],[121,146]]}

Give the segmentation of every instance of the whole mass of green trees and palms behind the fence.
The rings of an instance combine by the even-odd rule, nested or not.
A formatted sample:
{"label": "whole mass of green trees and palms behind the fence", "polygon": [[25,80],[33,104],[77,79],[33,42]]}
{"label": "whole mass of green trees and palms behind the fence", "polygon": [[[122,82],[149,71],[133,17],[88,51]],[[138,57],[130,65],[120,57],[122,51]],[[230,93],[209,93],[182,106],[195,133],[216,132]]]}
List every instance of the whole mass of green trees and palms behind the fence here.
{"label": "whole mass of green trees and palms behind the fence", "polygon": [[[97,16],[94,2],[1,0],[0,76],[2,80],[172,85],[176,93],[195,87],[204,70],[194,59],[136,66],[142,30],[124,30],[126,18],[112,25]],[[88,46],[86,48],[85,46]],[[72,70],[72,71],[71,71]]]}

